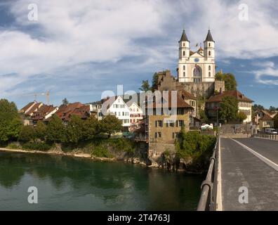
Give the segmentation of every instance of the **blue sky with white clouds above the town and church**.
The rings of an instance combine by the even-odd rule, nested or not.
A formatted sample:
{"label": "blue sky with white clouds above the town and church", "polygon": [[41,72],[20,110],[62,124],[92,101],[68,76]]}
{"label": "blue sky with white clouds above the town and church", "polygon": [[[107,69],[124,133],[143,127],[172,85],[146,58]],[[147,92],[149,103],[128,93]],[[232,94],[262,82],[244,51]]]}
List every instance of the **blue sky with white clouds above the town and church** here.
{"label": "blue sky with white clouds above the town and church", "polygon": [[277,11],[277,0],[1,0],[0,98],[22,108],[46,91],[53,105],[98,101],[117,85],[138,91],[154,72],[176,75],[183,29],[197,51],[210,27],[217,70],[278,107]]}

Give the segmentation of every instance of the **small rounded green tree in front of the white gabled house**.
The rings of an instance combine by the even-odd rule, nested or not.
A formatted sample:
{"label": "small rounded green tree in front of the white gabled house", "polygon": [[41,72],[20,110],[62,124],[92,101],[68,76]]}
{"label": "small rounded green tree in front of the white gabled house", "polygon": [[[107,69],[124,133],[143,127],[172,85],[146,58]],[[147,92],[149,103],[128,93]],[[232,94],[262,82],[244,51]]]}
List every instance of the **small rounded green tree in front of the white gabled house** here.
{"label": "small rounded green tree in front of the white gabled house", "polygon": [[100,120],[100,131],[102,133],[115,134],[117,131],[121,131],[121,120],[119,120],[114,115],[107,115],[102,120]]}

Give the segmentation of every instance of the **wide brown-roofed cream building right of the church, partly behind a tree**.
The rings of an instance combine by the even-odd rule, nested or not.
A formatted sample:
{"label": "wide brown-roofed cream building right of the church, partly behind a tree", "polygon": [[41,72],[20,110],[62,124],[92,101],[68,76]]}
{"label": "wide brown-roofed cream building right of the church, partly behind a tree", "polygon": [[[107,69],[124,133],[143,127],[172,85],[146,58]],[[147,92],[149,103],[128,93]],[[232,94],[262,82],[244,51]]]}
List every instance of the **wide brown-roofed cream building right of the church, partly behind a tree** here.
{"label": "wide brown-roofed cream building right of the church, partly behind a tree", "polygon": [[241,92],[237,90],[232,91],[224,91],[220,94],[215,94],[209,98],[208,101],[206,101],[206,110],[209,115],[209,117],[216,118],[217,117],[217,110],[220,108],[220,103],[222,99],[226,96],[233,96],[237,98],[239,112],[243,112],[246,115],[246,120],[244,122],[251,122],[252,120],[252,103],[253,101],[244,94],[241,94]]}

